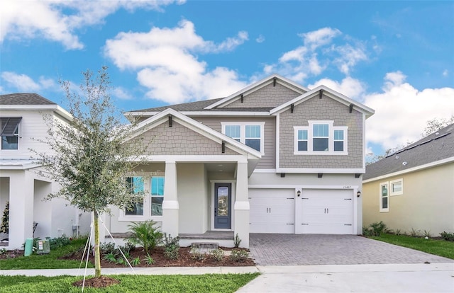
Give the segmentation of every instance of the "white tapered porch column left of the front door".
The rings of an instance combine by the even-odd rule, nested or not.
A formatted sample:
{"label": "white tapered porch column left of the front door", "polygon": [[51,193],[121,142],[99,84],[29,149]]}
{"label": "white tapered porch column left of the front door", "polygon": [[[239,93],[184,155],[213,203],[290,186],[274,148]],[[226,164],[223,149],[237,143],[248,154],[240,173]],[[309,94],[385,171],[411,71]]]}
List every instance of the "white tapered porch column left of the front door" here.
{"label": "white tapered porch column left of the front door", "polygon": [[164,200],[162,201],[162,232],[178,236],[177,163],[165,162]]}

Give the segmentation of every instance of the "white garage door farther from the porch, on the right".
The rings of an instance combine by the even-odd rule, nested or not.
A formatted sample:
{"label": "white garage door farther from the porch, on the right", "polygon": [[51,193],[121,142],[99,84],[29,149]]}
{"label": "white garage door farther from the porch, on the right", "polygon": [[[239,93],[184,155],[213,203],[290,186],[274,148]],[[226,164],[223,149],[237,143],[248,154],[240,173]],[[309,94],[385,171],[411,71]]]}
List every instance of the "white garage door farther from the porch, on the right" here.
{"label": "white garage door farther from the porch, on the right", "polygon": [[353,190],[303,189],[299,205],[302,205],[302,234],[354,234]]}

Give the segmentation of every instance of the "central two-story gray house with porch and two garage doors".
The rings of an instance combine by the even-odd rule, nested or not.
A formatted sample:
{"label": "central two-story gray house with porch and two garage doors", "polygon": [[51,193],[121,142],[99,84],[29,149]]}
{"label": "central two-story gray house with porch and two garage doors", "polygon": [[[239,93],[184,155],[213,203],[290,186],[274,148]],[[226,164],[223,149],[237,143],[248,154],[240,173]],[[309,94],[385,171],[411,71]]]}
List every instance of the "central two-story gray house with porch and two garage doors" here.
{"label": "central two-story gray house with porch and two garage doors", "polygon": [[[361,234],[365,120],[341,93],[272,75],[226,98],[126,113],[152,142],[143,202],[112,209],[114,237],[153,219],[182,245],[250,233]],[[142,178],[140,178],[142,177]],[[108,238],[106,238],[108,239]]]}

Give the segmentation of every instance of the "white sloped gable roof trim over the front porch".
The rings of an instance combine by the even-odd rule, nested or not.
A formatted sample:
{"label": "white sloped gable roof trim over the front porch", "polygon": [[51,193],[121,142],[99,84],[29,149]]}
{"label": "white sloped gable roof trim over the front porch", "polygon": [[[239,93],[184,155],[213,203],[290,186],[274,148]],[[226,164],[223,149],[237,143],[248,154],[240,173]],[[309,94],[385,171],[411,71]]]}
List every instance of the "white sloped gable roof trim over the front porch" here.
{"label": "white sloped gable roof trim over the front porch", "polygon": [[226,142],[226,146],[230,147],[234,151],[239,151],[241,154],[248,154],[248,158],[250,157],[250,159],[260,159],[262,157],[260,151],[256,151],[255,149],[250,148],[245,144],[237,142],[235,139],[232,139],[231,137],[228,137],[227,135],[222,134],[221,132],[217,132],[216,130],[213,130],[211,127],[203,125],[200,122],[190,117],[187,117],[182,113],[179,113],[177,110],[170,108],[138,123],[138,125],[135,127],[133,135],[136,136],[142,134],[143,132],[150,130],[156,125],[160,125],[161,123],[167,121],[169,116],[172,116],[172,119],[176,119],[178,122],[181,122],[184,126],[204,135],[205,137],[215,139],[219,143]]}

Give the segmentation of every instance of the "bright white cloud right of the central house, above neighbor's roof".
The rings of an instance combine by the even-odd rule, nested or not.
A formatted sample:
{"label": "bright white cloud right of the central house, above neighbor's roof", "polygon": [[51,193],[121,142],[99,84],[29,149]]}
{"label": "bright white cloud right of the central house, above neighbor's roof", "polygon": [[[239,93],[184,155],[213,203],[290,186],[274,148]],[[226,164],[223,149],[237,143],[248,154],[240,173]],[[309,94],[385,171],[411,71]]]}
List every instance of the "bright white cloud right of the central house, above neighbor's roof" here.
{"label": "bright white cloud right of the central house, above neighbor's roof", "polygon": [[428,120],[454,115],[454,88],[418,91],[405,77],[400,71],[389,72],[382,92],[364,97],[365,105],[375,109],[366,121],[367,142],[380,144],[384,150],[421,139]]}

